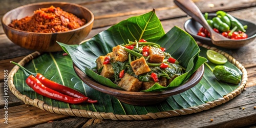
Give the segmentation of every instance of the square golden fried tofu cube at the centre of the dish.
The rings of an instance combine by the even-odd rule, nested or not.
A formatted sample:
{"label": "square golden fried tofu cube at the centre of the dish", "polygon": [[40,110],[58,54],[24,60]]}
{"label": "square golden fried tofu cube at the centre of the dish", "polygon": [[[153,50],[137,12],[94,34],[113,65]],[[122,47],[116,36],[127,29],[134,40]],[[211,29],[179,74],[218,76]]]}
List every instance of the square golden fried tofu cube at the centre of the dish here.
{"label": "square golden fried tofu cube at the centre of the dish", "polygon": [[151,69],[148,67],[145,58],[142,56],[130,63],[135,75],[140,75],[146,72],[150,72]]}

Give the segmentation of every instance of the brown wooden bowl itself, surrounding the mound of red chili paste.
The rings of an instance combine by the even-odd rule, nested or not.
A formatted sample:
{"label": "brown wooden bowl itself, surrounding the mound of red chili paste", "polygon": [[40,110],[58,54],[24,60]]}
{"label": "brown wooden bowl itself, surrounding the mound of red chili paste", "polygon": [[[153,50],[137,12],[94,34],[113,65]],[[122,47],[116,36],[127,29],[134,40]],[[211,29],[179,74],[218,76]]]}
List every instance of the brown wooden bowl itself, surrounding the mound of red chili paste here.
{"label": "brown wooden bowl itself, surrounding the mound of red chili paste", "polygon": [[[50,6],[60,7],[63,11],[72,13],[79,18],[84,18],[87,20],[87,23],[80,28],[57,33],[26,32],[8,26],[13,19],[32,16],[35,10],[48,8]],[[14,44],[26,49],[42,52],[62,51],[56,41],[69,45],[79,44],[92,30],[93,22],[94,15],[89,9],[77,4],[65,2],[44,2],[21,6],[7,12],[2,18],[3,29],[7,37],[14,42]]]}

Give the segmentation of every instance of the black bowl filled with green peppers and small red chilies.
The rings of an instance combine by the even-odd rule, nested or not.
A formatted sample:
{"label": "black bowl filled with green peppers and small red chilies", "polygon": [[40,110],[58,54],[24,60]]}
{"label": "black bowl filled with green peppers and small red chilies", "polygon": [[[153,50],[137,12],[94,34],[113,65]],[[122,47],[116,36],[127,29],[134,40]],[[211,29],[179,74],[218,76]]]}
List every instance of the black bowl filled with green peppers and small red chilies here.
{"label": "black bowl filled with green peppers and small red chilies", "polygon": [[[232,44],[224,48],[236,49],[243,47],[256,37],[256,30],[253,29],[256,25],[252,22],[233,17],[224,11],[217,11],[216,13],[206,12],[204,16],[209,26],[215,32],[233,40]],[[184,29],[202,44],[215,46],[211,42],[209,32],[195,19],[186,20]]]}

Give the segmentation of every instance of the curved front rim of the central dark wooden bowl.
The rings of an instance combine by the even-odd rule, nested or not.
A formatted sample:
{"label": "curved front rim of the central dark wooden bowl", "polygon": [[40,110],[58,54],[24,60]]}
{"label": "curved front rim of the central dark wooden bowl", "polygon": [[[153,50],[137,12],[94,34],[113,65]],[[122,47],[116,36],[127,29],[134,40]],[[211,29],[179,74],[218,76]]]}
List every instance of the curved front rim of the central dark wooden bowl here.
{"label": "curved front rim of the central dark wooden bowl", "polygon": [[[85,82],[89,87],[100,91],[102,93],[110,94],[116,97],[122,97],[122,98],[136,98],[136,99],[144,99],[145,96],[146,98],[154,98],[156,96],[162,96],[162,97],[167,97],[167,96],[172,96],[176,94],[180,94],[182,92],[185,92],[189,90],[190,88],[193,88],[196,86],[196,84],[199,83],[199,81],[202,79],[203,74],[204,74],[204,65],[201,65],[197,71],[193,73],[193,75],[190,76],[190,78],[180,86],[171,89],[171,90],[165,90],[165,91],[159,91],[159,92],[129,92],[129,91],[124,91],[124,90],[117,90],[114,88],[110,88],[107,86],[103,86],[102,84],[98,83],[91,77],[87,76],[85,73],[83,73],[76,65],[73,63],[73,68],[77,76]],[[199,75],[199,77],[195,77]],[[195,77],[195,78],[194,78]],[[92,83],[90,83],[92,82]],[[191,84],[190,84],[191,83]],[[189,86],[190,85],[190,86]],[[182,92],[179,92],[181,91]]]}

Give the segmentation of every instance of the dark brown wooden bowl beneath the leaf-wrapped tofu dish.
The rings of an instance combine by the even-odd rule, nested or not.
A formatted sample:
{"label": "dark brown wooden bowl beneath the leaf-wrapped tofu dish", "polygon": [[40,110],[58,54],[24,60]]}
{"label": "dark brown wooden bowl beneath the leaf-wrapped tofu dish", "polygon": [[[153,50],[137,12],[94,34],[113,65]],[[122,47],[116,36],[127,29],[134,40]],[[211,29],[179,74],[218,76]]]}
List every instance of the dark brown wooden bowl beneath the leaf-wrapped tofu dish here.
{"label": "dark brown wooden bowl beneath the leaf-wrapped tofu dish", "polygon": [[122,91],[113,88],[109,88],[99,84],[91,77],[88,77],[84,74],[75,64],[74,70],[78,77],[86,83],[91,88],[100,91],[102,93],[106,93],[109,95],[113,95],[120,101],[132,104],[132,105],[150,105],[159,103],[169,96],[180,94],[182,92],[187,91],[188,89],[196,86],[196,84],[202,79],[204,73],[204,65],[202,65],[184,84],[179,87],[176,87],[172,90],[161,91],[161,92],[129,92],[129,91]]}

